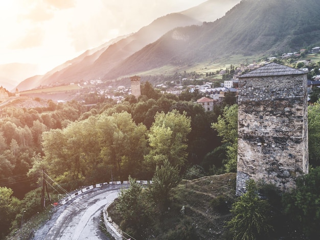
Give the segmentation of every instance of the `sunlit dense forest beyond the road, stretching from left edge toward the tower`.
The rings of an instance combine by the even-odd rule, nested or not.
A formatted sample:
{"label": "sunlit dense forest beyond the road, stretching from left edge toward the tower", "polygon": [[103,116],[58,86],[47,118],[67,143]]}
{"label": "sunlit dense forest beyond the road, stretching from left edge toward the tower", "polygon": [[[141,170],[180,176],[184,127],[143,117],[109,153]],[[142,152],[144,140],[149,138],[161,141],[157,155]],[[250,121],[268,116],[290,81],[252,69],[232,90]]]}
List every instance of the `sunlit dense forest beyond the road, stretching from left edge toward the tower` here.
{"label": "sunlit dense forest beyond the road, stretching from left edge toward the tower", "polygon": [[224,106],[205,112],[193,103],[200,97],[199,92],[161,94],[146,82],[139,99],[131,95],[121,104],[106,100],[88,108],[75,101],[48,101],[43,108],[3,108],[2,236],[11,225],[17,227],[22,208],[26,220],[40,210],[42,171],[72,190],[129,175],[151,180],[164,159],[180,175],[193,166],[201,176],[223,168],[225,148],[218,158],[210,153],[221,145],[211,124]]}

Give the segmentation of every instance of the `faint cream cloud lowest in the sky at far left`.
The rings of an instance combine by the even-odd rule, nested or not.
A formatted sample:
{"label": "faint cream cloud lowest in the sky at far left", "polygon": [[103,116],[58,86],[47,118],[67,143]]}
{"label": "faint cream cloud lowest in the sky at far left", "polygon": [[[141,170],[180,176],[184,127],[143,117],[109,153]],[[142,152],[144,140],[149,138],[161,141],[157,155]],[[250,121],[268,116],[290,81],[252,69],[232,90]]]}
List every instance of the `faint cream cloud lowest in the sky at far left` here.
{"label": "faint cream cloud lowest in the sky at far left", "polygon": [[12,50],[28,49],[40,46],[44,39],[44,31],[39,28],[33,28],[27,31],[26,35],[13,41],[9,47]]}

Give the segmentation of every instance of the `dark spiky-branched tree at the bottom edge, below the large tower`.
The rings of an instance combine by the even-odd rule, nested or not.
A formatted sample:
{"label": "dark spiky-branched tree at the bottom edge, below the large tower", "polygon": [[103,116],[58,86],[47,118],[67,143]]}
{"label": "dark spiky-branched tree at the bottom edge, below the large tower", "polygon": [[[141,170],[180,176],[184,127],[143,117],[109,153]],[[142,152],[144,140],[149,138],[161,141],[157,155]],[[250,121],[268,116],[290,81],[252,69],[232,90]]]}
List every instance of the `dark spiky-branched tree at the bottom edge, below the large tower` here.
{"label": "dark spiky-branched tree at the bottom edge, below the large tower", "polygon": [[270,205],[267,200],[260,199],[254,180],[246,182],[246,190],[232,205],[233,218],[227,222],[227,227],[233,233],[234,240],[269,239],[272,231]]}

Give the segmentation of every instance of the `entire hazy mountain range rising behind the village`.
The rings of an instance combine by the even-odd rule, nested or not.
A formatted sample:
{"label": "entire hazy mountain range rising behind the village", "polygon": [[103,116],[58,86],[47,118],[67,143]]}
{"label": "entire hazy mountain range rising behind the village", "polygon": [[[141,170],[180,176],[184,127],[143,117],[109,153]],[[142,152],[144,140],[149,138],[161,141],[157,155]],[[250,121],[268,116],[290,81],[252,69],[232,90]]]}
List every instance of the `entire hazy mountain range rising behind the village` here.
{"label": "entire hazy mountain range rising behind the village", "polygon": [[26,90],[56,82],[106,81],[165,65],[186,66],[233,54],[268,57],[320,41],[317,0],[242,0],[233,8],[239,1],[228,1],[229,8],[225,2],[209,0],[160,17],[136,33],[87,51],[17,87]]}

